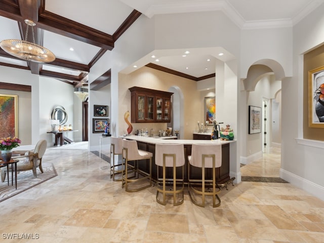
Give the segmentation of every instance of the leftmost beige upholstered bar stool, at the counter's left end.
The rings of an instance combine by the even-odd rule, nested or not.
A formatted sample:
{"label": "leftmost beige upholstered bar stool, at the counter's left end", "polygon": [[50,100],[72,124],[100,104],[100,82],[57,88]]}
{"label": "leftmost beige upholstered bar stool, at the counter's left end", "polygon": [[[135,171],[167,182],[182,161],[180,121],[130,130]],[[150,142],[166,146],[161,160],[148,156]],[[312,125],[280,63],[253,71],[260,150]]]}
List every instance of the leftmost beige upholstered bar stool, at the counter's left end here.
{"label": "leftmost beige upholstered bar stool, at the counter's left end", "polygon": [[108,154],[110,158],[110,178],[113,181],[121,181],[121,176],[120,179],[116,179],[115,175],[123,173],[123,161],[115,163],[115,155],[123,154],[123,138],[111,137],[110,139],[110,153]]}

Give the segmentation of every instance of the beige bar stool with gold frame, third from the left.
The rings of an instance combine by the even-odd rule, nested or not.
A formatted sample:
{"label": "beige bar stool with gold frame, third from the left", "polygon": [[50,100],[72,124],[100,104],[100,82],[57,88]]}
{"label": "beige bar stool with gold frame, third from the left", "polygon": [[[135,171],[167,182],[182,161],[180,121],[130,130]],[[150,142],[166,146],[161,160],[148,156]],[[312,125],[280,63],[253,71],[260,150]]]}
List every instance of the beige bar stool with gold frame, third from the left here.
{"label": "beige bar stool with gold frame, third from the left", "polygon": [[[155,144],[155,165],[157,166],[157,185],[156,185],[156,201],[161,205],[166,205],[166,194],[173,195],[173,205],[177,206],[183,203],[183,177],[184,177],[184,146],[183,144]],[[159,167],[162,167],[163,173],[160,178],[158,175]],[[172,168],[172,178],[166,178],[166,169]],[[182,167],[182,177],[177,179],[177,167]],[[181,186],[177,187],[177,182]],[[167,189],[167,183],[171,185]],[[163,194],[163,200],[158,199],[159,193]],[[177,195],[181,198],[177,201]]]}

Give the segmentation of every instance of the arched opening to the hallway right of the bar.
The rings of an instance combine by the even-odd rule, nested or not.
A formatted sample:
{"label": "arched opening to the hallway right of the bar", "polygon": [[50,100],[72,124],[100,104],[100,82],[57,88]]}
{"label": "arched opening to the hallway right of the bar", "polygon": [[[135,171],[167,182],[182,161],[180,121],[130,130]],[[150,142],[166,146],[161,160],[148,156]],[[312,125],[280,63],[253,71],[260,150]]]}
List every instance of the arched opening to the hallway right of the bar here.
{"label": "arched opening to the hallway right of the bar", "polygon": [[[249,134],[246,131],[246,145],[241,152],[241,164],[255,163],[254,170],[253,173],[250,171],[251,174],[246,175],[245,169],[241,169],[242,178],[245,176],[279,177],[281,163],[280,154],[278,155],[281,146],[281,92],[279,91],[281,79],[284,77],[281,65],[274,60],[266,59],[253,64],[249,68],[247,78],[242,80],[242,91],[246,92],[246,110],[249,106],[261,108],[261,132]],[[273,146],[276,150],[272,149]],[[274,162],[275,165],[271,164],[269,159],[274,151],[275,158],[278,158]],[[268,170],[269,166],[272,168],[271,171]]]}

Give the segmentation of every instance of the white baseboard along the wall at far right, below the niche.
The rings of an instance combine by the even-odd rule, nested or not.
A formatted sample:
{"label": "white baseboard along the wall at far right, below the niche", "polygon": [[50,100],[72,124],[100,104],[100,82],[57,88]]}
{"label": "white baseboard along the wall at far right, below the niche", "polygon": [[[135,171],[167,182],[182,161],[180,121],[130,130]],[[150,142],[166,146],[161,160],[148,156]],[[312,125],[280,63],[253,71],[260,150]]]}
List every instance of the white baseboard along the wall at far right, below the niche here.
{"label": "white baseboard along the wall at far right, below the niche", "polygon": [[288,181],[294,186],[307,191],[308,193],[318,197],[321,200],[324,200],[324,187],[283,169],[279,170],[279,175],[280,178],[284,179],[285,181]]}

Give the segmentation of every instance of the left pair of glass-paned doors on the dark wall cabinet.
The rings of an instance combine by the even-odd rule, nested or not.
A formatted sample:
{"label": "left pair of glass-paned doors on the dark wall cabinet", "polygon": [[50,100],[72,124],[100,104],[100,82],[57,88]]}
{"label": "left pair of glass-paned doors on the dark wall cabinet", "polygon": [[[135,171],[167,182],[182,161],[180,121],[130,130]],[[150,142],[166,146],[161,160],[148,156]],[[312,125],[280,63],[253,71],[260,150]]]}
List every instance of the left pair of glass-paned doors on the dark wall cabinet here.
{"label": "left pair of glass-paned doors on the dark wall cabinet", "polygon": [[137,115],[136,122],[154,121],[154,96],[136,94]]}

